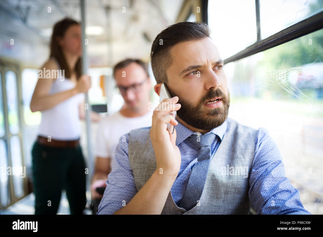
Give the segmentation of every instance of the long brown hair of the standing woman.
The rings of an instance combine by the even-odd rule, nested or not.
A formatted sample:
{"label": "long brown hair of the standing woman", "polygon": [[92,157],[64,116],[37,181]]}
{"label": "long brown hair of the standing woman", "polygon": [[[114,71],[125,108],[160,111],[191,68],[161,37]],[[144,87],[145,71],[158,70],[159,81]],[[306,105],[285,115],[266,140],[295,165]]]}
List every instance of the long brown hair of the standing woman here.
{"label": "long brown hair of the standing woman", "polygon": [[[71,70],[68,67],[68,64],[66,62],[66,59],[64,57],[62,48],[58,45],[57,42],[57,36],[64,37],[66,30],[71,25],[79,25],[77,21],[74,21],[70,18],[65,18],[59,22],[57,22],[54,25],[53,34],[50,42],[50,57],[55,57],[58,61],[60,67],[62,70],[65,70],[65,77],[70,78],[71,77]],[[82,74],[82,65],[81,65],[81,57],[78,59],[78,61],[75,64],[74,71],[76,73],[77,80]]]}

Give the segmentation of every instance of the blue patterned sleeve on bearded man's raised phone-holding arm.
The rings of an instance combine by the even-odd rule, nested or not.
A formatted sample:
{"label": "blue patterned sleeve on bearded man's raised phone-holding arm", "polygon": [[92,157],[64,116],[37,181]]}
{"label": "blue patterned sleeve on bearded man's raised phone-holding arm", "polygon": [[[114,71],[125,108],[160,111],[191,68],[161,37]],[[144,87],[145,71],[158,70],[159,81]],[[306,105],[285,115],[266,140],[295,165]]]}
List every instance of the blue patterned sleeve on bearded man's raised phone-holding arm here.
{"label": "blue patterned sleeve on bearded man's raised phone-holding arm", "polygon": [[119,139],[112,171],[108,175],[107,187],[99,204],[98,215],[113,214],[130,202],[137,193],[128,157],[128,142],[129,133]]}

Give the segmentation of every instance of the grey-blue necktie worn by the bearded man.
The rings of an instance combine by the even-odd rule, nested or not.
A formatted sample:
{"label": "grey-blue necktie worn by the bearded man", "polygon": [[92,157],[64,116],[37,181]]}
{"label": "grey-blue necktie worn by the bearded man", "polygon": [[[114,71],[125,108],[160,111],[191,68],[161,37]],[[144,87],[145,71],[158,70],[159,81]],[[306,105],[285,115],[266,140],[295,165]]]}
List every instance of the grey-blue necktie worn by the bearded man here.
{"label": "grey-blue necktie worn by the bearded man", "polygon": [[201,135],[200,137],[192,134],[187,139],[196,145],[198,148],[198,154],[197,163],[195,163],[192,168],[182,200],[178,205],[186,211],[192,209],[200,200],[202,195],[211,160],[210,146],[214,142],[215,134],[208,133]]}

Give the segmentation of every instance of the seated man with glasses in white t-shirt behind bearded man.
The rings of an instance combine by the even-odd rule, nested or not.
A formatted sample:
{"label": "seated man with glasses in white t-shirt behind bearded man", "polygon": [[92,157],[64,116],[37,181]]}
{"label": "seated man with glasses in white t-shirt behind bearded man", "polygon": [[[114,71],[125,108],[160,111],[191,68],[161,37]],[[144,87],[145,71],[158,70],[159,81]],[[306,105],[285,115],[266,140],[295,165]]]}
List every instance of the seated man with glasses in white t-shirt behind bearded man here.
{"label": "seated man with glasses in white t-shirt behind bearded man", "polygon": [[130,130],[151,126],[153,111],[149,111],[151,82],[147,65],[139,59],[126,59],[115,65],[113,76],[125,103],[120,111],[99,123],[95,173],[91,185],[92,199],[102,198],[96,188],[106,186],[120,137]]}

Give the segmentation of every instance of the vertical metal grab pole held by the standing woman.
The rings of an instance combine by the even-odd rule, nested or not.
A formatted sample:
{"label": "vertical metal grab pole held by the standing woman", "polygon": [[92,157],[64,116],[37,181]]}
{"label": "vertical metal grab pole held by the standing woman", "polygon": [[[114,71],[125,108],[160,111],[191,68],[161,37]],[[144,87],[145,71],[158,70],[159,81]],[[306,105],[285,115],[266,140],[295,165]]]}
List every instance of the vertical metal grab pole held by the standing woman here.
{"label": "vertical metal grab pole held by the standing woman", "polygon": [[[88,63],[87,63],[87,52],[85,47],[85,0],[80,0],[81,2],[81,27],[82,27],[82,70],[83,74],[88,73]],[[93,156],[92,156],[92,143],[91,143],[91,106],[89,104],[89,94],[85,93],[85,103],[88,105],[85,110],[86,117],[86,132],[87,132],[87,145],[88,145],[88,167],[89,167],[89,179],[90,182],[92,172],[93,172]],[[85,172],[85,171],[84,171]]]}

